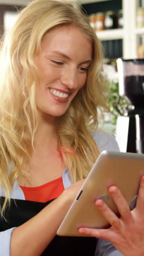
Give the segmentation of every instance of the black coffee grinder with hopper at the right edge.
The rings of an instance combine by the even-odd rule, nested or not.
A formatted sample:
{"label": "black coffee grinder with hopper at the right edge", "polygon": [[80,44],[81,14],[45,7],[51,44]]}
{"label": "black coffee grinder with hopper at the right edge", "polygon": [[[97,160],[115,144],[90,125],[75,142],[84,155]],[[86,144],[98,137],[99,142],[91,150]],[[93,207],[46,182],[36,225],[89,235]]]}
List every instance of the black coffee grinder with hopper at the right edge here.
{"label": "black coffee grinder with hopper at the right edge", "polygon": [[117,60],[119,95],[131,108],[118,117],[116,139],[122,152],[144,154],[144,59]]}

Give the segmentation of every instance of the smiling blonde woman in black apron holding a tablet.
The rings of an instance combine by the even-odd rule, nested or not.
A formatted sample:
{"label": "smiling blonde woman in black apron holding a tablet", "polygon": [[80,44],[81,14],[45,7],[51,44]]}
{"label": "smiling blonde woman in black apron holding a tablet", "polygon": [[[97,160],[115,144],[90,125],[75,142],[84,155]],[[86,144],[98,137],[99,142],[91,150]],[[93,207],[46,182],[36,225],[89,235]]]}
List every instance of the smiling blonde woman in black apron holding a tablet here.
{"label": "smiling blonde woman in black apron holding a tablet", "polygon": [[65,2],[32,1],[5,36],[0,255],[143,255],[143,239],[141,244],[135,240],[141,251],[131,247],[134,232],[127,223],[132,215],[115,187],[110,192],[117,205],[121,202],[120,219],[103,201],[95,206],[112,224],[109,230],[79,230],[89,237],[56,236],[99,152],[118,150],[111,135],[97,131],[97,110],[107,108],[102,58],[86,16]]}

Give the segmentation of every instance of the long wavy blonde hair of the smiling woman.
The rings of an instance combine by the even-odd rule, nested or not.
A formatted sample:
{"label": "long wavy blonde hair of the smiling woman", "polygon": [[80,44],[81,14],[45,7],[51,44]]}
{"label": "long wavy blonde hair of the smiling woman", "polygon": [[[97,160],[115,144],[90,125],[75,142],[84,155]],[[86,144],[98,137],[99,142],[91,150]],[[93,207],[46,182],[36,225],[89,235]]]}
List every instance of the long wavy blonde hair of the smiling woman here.
{"label": "long wavy blonde hair of the smiling woman", "polygon": [[90,131],[98,127],[98,108],[107,109],[101,76],[101,43],[81,10],[67,1],[34,0],[20,11],[13,29],[4,37],[0,59],[0,187],[5,202],[21,174],[23,161],[31,160],[38,126],[35,89],[39,78],[34,56],[44,34],[61,24],[72,24],[91,39],[92,65],[85,86],[77,93],[67,112],[57,119],[57,136],[73,182],[85,178],[99,155]]}

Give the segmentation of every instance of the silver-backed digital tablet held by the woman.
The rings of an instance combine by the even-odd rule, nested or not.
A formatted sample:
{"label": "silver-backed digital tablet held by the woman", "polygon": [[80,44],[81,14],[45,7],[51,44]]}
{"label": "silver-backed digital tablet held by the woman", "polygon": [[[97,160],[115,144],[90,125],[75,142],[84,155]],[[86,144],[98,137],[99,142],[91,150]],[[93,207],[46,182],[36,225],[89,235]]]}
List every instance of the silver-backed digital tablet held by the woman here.
{"label": "silver-backed digital tablet held by the woman", "polygon": [[109,187],[116,185],[132,210],[143,175],[144,155],[103,151],[59,226],[57,235],[85,236],[79,234],[79,228],[107,228],[109,223],[95,206],[95,201],[103,199],[118,214],[109,194]]}

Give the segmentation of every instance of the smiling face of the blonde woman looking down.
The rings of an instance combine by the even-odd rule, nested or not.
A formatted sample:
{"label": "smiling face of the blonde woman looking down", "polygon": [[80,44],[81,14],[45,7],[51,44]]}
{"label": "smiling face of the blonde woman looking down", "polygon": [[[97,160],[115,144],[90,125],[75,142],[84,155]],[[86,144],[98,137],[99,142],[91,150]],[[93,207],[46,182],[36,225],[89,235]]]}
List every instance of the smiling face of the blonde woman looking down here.
{"label": "smiling face of the blonde woman looking down", "polygon": [[92,43],[79,28],[62,25],[47,32],[34,62],[40,84],[35,94],[39,114],[63,115],[85,85]]}

